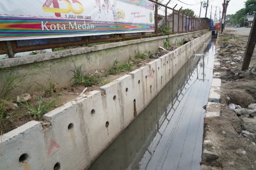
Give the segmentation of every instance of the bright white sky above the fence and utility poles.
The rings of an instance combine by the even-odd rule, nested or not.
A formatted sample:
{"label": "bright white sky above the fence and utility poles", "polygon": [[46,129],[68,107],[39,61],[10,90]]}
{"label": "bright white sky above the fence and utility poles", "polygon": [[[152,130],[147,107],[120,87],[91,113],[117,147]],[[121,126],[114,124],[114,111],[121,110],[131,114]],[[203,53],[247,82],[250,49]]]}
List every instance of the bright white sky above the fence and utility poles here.
{"label": "bright white sky above the fence and utility poles", "polygon": [[[162,4],[167,4],[169,0],[158,0],[158,2],[161,2]],[[204,2],[206,3],[207,0],[205,1],[202,1],[201,2]],[[227,7],[227,14],[234,14],[236,13],[238,10],[244,8],[245,6],[245,2],[246,0],[230,0],[229,1],[229,4],[228,4],[228,7]],[[185,4],[188,4],[188,5],[185,5]],[[208,6],[208,9],[207,9],[207,17],[210,18],[210,11],[211,11],[211,18],[213,18],[215,16],[215,12],[216,12],[216,7],[217,7],[217,12],[216,12],[216,18],[219,18],[220,17],[220,11],[221,11],[221,15],[222,15],[222,9],[223,9],[223,6],[222,4],[224,3],[224,0],[209,0],[209,6]],[[171,0],[168,4],[168,6],[170,8],[174,8],[174,6],[177,4],[177,6],[175,7],[176,10],[179,10],[181,7],[182,9],[192,9],[194,10],[195,12],[195,15],[199,16],[200,14],[200,6],[201,6],[201,3],[200,3],[200,0]],[[212,6],[212,10],[211,10],[211,6]],[[162,8],[164,9],[164,8]],[[164,15],[164,12],[163,10],[159,11],[159,14],[161,15]],[[203,8],[203,5],[202,5],[202,9],[201,9],[201,17],[205,17],[205,8]],[[168,12],[168,13],[172,13],[172,12]]]}

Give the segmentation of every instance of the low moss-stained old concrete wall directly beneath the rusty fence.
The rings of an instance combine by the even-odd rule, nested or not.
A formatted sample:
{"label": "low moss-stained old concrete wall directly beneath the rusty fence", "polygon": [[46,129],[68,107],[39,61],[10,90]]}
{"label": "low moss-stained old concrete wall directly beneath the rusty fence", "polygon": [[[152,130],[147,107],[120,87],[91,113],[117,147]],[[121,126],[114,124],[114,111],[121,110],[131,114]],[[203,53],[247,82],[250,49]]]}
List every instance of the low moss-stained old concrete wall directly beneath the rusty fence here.
{"label": "low moss-stained old concrete wall directly beneath the rusty fence", "polygon": [[[181,34],[169,35],[169,43],[174,44],[183,41],[185,38],[205,34],[207,31],[196,31]],[[168,36],[151,37],[136,39],[130,41],[106,43],[95,46],[85,46],[71,48],[67,50],[42,53],[37,55],[29,55],[18,58],[8,58],[0,60],[0,69],[9,68],[0,71],[0,80],[8,75],[8,71],[13,71],[20,75],[36,75],[29,76],[23,81],[24,87],[30,87],[31,82],[37,82],[47,85],[46,82],[50,78],[58,82],[58,87],[67,87],[71,82],[74,66],[81,66],[84,74],[94,73],[95,70],[109,70],[116,60],[120,63],[133,57],[136,52],[144,53],[148,51],[157,51],[159,46],[164,46],[164,42]],[[0,89],[3,86],[0,83]],[[26,89],[26,88],[25,88]],[[17,89],[15,94],[22,94],[23,89]],[[38,90],[36,84],[32,85],[28,92]]]}

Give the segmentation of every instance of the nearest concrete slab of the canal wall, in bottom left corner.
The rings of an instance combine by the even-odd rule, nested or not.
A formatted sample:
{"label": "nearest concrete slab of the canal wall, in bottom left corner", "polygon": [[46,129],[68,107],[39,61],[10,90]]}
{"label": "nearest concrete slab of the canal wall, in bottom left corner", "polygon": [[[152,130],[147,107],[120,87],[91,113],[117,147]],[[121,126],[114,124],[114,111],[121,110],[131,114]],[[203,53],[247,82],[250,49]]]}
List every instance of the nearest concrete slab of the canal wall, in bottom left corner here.
{"label": "nearest concrete slab of the canal wall, in bottom left corner", "polygon": [[48,151],[39,122],[32,120],[4,134],[0,145],[1,169],[53,169],[46,163]]}

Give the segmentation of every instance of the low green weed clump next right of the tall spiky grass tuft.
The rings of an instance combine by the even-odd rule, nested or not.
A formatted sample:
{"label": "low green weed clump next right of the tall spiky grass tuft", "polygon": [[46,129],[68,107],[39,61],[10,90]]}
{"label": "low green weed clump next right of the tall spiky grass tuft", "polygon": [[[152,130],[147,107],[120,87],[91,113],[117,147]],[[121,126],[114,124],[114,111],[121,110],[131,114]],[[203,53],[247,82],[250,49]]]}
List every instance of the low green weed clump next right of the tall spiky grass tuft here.
{"label": "low green weed clump next right of the tall spiky grass tuft", "polygon": [[129,62],[129,60],[126,60],[123,64],[118,65],[119,61],[116,59],[114,66],[112,68],[110,68],[110,70],[108,71],[108,73],[110,75],[116,75],[119,74],[119,72],[122,71],[129,71],[133,68],[133,63]]}

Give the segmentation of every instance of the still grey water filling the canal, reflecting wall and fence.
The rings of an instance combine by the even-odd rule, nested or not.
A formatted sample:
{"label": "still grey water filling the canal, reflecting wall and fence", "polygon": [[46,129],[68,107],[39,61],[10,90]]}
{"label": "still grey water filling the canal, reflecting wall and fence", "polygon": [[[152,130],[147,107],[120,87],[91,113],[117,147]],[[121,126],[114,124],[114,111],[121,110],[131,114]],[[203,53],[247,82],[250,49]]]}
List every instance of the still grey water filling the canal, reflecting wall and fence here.
{"label": "still grey water filling the canal, reflecting wall and fence", "polygon": [[[206,48],[205,48],[206,47]],[[89,169],[200,169],[214,41],[192,57]]]}

